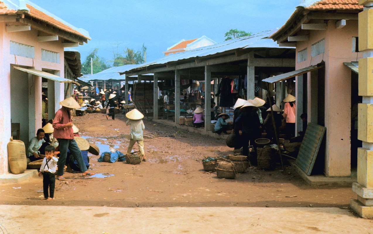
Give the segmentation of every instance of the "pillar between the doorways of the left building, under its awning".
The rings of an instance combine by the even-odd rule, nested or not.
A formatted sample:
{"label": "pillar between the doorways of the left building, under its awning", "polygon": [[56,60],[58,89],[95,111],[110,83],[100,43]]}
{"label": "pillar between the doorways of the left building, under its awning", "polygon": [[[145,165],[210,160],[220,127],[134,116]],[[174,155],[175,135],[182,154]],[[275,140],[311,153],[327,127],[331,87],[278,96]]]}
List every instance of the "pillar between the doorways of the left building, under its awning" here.
{"label": "pillar between the doorways of the left building, under its awning", "polygon": [[41,128],[41,77],[28,74],[28,88],[28,139],[31,139]]}

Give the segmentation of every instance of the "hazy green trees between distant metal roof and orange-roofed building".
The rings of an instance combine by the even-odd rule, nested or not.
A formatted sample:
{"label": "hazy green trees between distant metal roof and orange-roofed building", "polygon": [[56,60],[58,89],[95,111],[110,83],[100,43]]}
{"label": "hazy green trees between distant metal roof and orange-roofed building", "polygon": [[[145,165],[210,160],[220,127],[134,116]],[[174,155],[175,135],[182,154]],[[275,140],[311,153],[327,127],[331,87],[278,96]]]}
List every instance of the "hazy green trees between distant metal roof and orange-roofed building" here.
{"label": "hazy green trees between distant metal roof and orange-roofed building", "polygon": [[133,49],[126,48],[124,54],[115,54],[114,53],[114,61],[113,66],[123,66],[127,64],[141,64],[145,62],[146,56],[146,49],[145,45],[142,45],[141,51],[134,51]]}

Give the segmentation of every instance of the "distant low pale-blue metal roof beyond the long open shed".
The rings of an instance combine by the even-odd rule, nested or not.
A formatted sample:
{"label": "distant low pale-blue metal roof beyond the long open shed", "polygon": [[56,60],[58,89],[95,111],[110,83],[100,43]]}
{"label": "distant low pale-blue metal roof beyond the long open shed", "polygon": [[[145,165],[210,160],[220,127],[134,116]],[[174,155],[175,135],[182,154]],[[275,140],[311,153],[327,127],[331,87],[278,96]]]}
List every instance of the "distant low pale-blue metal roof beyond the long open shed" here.
{"label": "distant low pale-blue metal roof beyond the long open shed", "polygon": [[109,69],[103,70],[102,72],[98,72],[93,75],[88,75],[85,77],[81,77],[80,79],[89,82],[91,80],[93,81],[98,81],[98,80],[124,80],[125,76],[119,75],[119,72],[122,70],[129,70],[134,67],[138,67],[139,64],[128,64],[128,65],[123,65],[119,67],[110,67]]}

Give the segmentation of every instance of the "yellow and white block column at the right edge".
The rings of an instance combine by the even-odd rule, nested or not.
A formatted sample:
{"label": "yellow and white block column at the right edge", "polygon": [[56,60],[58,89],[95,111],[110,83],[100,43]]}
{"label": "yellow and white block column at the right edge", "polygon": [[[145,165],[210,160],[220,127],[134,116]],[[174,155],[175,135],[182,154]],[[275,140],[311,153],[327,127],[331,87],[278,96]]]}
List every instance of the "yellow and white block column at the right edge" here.
{"label": "yellow and white block column at the right edge", "polygon": [[363,103],[358,104],[358,139],[363,147],[358,148],[357,183],[352,191],[357,199],[350,206],[363,218],[373,218],[373,0],[360,0],[364,11],[359,13],[359,49],[363,59],[359,60],[359,95]]}

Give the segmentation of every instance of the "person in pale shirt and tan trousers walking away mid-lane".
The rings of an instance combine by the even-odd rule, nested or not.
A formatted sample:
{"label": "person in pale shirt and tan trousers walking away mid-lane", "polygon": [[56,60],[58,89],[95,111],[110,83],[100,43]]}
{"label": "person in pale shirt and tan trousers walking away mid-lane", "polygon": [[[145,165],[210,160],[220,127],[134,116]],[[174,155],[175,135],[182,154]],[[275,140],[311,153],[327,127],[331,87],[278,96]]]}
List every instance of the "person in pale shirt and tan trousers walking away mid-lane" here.
{"label": "person in pale shirt and tan trousers walking away mid-lane", "polygon": [[126,114],[128,118],[126,125],[131,126],[131,134],[129,139],[129,145],[127,149],[127,154],[131,154],[132,147],[134,147],[135,143],[139,147],[140,157],[142,161],[146,161],[145,152],[144,152],[144,137],[142,136],[142,130],[145,129],[144,122],[142,122],[142,118],[144,115],[141,114],[140,111],[137,109],[133,109]]}

